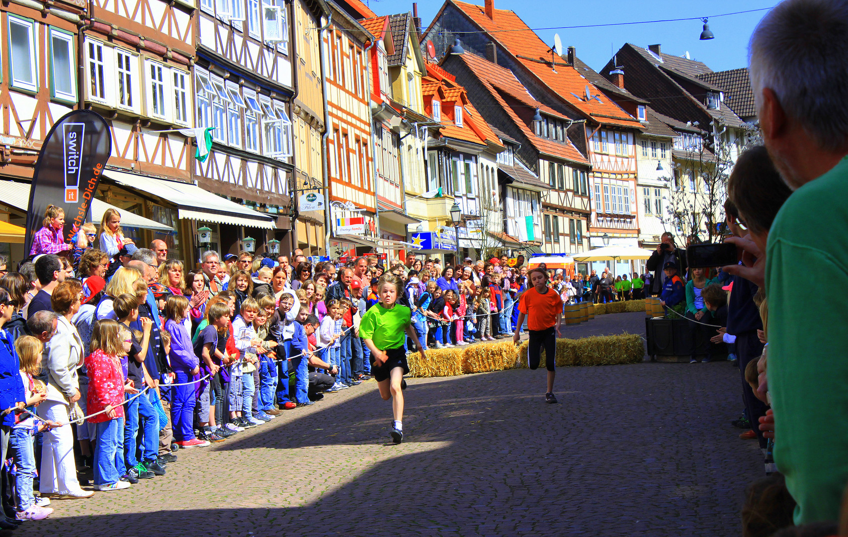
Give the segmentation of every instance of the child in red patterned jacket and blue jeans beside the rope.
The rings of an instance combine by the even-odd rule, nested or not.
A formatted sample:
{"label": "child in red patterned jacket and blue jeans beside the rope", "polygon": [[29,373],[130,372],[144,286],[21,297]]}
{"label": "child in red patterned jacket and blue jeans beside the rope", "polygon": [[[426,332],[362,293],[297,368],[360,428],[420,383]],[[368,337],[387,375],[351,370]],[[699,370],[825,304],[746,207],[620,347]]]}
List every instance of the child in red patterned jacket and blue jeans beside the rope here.
{"label": "child in red patterned jacket and blue jeans beside the rope", "polygon": [[121,358],[132,348],[132,338],[126,328],[111,319],[95,322],[92,329],[92,352],[86,356],[88,394],[86,411],[97,414],[88,418],[97,428],[94,448],[94,489],[112,491],[128,489],[121,481],[121,471],[115,464],[116,455],[124,443],[125,393],[136,391],[129,387],[122,371]]}

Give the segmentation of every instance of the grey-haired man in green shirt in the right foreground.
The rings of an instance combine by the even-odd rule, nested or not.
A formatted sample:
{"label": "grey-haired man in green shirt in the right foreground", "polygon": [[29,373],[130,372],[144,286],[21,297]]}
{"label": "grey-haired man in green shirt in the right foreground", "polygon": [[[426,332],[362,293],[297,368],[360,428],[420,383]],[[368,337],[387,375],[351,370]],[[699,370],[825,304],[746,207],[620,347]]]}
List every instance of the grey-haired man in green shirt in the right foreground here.
{"label": "grey-haired man in green shirt in the right foreground", "polygon": [[[828,293],[802,293],[798,271],[828,289],[848,287],[848,8],[786,0],[757,25],[750,80],[762,137],[795,192],[774,219],[767,251],[725,271],[766,285],[768,392],[774,461],[797,501],[795,523],[839,518],[848,482],[848,309]],[[823,236],[826,230],[827,236]],[[765,257],[765,260],[763,258]]]}

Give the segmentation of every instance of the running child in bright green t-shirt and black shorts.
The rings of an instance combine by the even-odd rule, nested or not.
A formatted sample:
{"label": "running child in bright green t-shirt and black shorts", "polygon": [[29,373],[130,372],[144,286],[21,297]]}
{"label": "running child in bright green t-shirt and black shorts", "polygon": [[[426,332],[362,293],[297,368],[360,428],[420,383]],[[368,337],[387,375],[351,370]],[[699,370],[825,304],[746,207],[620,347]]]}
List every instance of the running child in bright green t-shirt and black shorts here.
{"label": "running child in bright green t-shirt and black shorts", "polygon": [[391,435],[395,444],[404,439],[404,374],[410,372],[404,350],[406,335],[416,344],[421,360],[427,360],[412,324],[412,311],[397,304],[401,288],[399,277],[384,274],[377,282],[379,302],[365,311],[360,322],[360,338],[371,350],[371,375],[377,380],[382,400],[392,399],[394,421]]}

